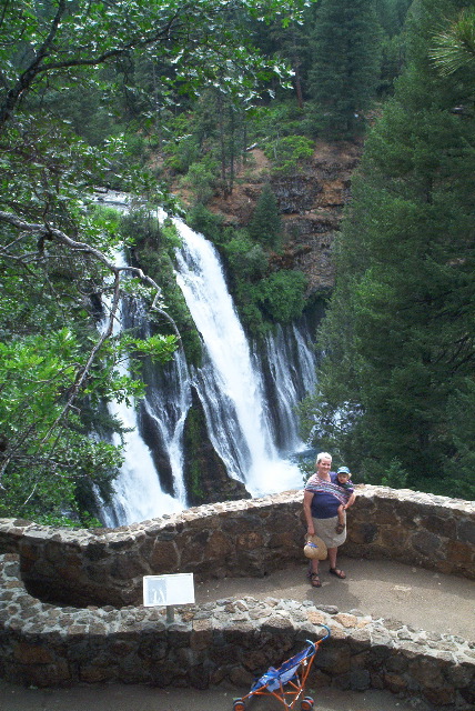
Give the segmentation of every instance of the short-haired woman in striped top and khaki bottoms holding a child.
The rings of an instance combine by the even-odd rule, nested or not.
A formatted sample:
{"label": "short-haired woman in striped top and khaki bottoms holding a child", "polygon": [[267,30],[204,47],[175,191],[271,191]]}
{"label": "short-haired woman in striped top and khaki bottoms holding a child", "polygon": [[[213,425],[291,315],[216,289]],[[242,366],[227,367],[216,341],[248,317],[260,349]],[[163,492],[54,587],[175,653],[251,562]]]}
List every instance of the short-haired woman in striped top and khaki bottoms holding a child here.
{"label": "short-haired woman in striped top and khaki bottoms holding a child", "polygon": [[[316,458],[316,473],[305,484],[303,494],[303,510],[307,525],[307,535],[319,535],[329,549],[330,572],[336,578],[346,578],[343,570],[336,568],[336,552],[338,545],[346,540],[346,525],[341,533],[335,529],[338,523],[338,505],[344,502],[336,473],[332,468],[332,455],[320,452]],[[345,520],[346,513],[344,512]],[[311,560],[311,583],[321,588],[319,575],[319,560]]]}

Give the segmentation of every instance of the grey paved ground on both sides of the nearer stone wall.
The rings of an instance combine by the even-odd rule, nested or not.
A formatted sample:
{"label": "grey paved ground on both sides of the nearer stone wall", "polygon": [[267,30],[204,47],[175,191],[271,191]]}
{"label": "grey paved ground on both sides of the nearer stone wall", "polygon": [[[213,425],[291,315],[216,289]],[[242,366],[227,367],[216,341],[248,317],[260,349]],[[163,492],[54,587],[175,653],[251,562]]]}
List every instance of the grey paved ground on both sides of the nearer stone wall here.
{"label": "grey paved ground on both sides of the nearer stone wall", "polygon": [[[196,602],[221,598],[292,598],[333,604],[341,612],[397,619],[414,628],[475,640],[475,582],[390,561],[344,559],[346,580],[329,575],[321,564],[322,588],[305,578],[305,563],[266,578],[223,579],[195,585]],[[0,680],[1,711],[232,711],[233,699],[249,692],[220,687],[206,691],[135,685],[81,685],[72,689],[23,689]],[[420,701],[403,702],[384,691],[343,692],[306,689],[315,711],[429,711]],[[282,711],[282,703],[253,699],[249,711]]]}

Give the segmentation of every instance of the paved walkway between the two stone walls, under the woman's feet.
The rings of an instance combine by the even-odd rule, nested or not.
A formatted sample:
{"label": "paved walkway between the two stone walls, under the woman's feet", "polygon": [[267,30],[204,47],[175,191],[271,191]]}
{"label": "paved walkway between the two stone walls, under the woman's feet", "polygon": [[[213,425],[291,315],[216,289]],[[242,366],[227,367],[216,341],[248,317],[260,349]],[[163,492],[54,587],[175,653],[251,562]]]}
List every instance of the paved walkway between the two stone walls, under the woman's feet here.
{"label": "paved walkway between the two stone walls, under the woman's feet", "polygon": [[338,557],[337,563],[346,579],[330,575],[324,561],[320,565],[321,588],[310,585],[303,562],[266,578],[225,578],[198,584],[196,601],[244,595],[312,600],[336,605],[340,612],[358,610],[475,642],[475,581],[393,561]]}

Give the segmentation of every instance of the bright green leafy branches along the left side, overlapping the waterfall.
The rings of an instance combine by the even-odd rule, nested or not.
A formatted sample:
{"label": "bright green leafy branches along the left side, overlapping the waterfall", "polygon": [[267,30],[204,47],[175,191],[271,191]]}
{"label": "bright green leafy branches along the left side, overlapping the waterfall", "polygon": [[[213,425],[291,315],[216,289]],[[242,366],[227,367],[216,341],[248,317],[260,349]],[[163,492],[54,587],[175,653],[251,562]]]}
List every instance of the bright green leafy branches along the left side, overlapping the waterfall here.
{"label": "bright green leafy branches along the left side, overlapping the waterfall", "polygon": [[[3,0],[0,515],[87,523],[92,485],[107,499],[121,462],[120,448],[91,437],[120,431],[101,403],[141,393],[120,361],[133,350],[163,362],[179,344],[159,284],[138,267],[115,267],[117,214],[92,207],[97,186],[166,202],[137,159],[139,123],[124,132],[121,117],[140,112],[144,93],[132,68],[150,71],[162,106],[216,81],[244,101],[272,73],[246,24],[285,24],[303,6]],[[113,333],[124,292],[144,299],[155,320],[146,343]]]}

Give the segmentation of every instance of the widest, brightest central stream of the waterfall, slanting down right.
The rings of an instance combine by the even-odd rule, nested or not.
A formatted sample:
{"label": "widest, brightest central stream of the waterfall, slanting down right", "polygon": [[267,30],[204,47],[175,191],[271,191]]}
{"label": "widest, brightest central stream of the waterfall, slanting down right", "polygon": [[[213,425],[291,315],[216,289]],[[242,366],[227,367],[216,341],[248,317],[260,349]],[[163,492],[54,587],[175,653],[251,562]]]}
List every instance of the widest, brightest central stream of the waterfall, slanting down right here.
{"label": "widest, brightest central stream of the waterfall, slanting down right", "polygon": [[280,457],[270,428],[263,382],[253,363],[213,246],[181,220],[176,282],[201,333],[205,358],[194,380],[210,438],[228,472],[252,495],[300,488],[299,468]]}

